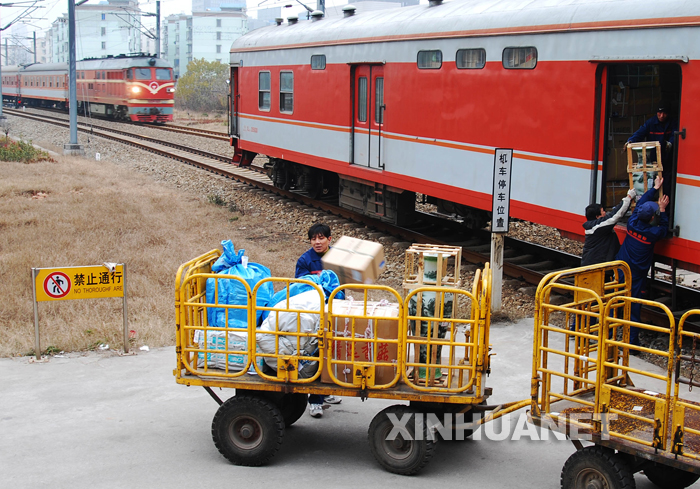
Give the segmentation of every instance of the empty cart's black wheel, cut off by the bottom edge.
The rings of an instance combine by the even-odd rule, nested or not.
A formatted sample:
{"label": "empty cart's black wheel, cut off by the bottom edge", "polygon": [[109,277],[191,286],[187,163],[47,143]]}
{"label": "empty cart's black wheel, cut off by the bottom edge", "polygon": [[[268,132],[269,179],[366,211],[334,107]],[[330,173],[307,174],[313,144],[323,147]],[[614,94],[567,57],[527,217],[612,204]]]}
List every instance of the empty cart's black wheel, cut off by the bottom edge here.
{"label": "empty cart's black wheel, cut off by the bottom edge", "polygon": [[562,489],[634,489],[627,464],[599,446],[576,451],[561,470]]}

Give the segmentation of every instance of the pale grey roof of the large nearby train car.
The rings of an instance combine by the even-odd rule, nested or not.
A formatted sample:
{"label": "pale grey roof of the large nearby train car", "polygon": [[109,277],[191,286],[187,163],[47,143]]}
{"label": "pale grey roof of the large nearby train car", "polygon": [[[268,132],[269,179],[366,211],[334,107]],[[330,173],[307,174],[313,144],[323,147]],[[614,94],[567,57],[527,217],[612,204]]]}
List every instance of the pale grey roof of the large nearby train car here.
{"label": "pale grey roof of the large nearby train car", "polygon": [[700,25],[697,0],[455,0],[256,29],[231,52],[410,38]]}

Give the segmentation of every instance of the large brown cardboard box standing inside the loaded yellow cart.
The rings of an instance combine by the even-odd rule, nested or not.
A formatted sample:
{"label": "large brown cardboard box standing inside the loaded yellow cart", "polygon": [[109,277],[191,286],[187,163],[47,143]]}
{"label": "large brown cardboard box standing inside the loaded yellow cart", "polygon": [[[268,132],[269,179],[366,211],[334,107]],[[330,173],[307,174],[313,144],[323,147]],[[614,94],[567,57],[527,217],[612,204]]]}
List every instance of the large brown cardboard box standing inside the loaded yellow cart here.
{"label": "large brown cardboard box standing inside the loaded yellow cart", "polygon": [[[355,338],[378,338],[378,339],[398,339],[399,322],[398,319],[379,319],[372,320],[372,327],[368,328],[369,320],[358,316],[374,316],[384,318],[398,318],[399,305],[388,304],[380,305],[377,302],[367,302],[365,307],[364,302],[349,301],[349,300],[334,300],[333,314],[331,318],[330,328],[333,336],[347,337],[353,333]],[[348,362],[371,362],[376,358],[377,362],[398,363],[398,344],[388,342],[377,342],[376,352],[374,351],[375,344],[369,342],[356,342],[354,356],[352,354],[352,342],[335,340],[329,343],[327,354],[330,358],[337,360],[347,360]],[[333,374],[343,382],[352,383],[352,363],[338,363],[332,366]],[[396,367],[376,367],[375,369],[375,385],[389,384],[396,375]],[[328,361],[326,360],[325,367],[321,373],[321,382],[332,384],[330,374],[328,373]]]}

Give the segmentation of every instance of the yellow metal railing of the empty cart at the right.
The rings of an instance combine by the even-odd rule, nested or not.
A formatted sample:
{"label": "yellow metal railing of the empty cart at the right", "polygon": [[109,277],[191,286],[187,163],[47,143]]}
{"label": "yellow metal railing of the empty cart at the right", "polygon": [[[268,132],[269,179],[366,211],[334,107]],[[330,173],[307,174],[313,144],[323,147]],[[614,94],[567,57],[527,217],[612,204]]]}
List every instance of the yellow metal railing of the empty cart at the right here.
{"label": "yellow metal railing of the empty cart at the right", "polygon": [[[700,404],[678,395],[680,383],[693,385],[692,380],[680,376],[679,362],[694,362],[694,354],[684,357],[678,353],[683,339],[693,344],[698,341],[696,334],[683,331],[683,323],[700,310],[685,315],[676,328],[665,305],[631,297],[630,286],[630,270],[623,262],[553,273],[542,280],[536,296],[533,415],[549,415],[599,435],[604,430],[611,439],[653,448],[657,453],[697,458],[700,423],[688,426],[688,421],[700,420]],[[574,300],[552,304],[554,291],[572,295]],[[665,319],[661,325],[631,321],[633,304],[655,309]],[[574,331],[569,330],[572,322]],[[631,328],[653,333],[655,347],[631,344]],[[575,341],[570,342],[572,337]],[[646,363],[643,368],[631,366],[630,355],[637,352],[644,353],[651,364],[662,366],[663,371],[659,373]],[[638,384],[657,386],[660,392],[635,387],[633,378]],[[556,379],[563,381],[561,388],[555,387]],[[683,449],[683,440],[688,437],[694,438],[696,447],[691,453]]]}

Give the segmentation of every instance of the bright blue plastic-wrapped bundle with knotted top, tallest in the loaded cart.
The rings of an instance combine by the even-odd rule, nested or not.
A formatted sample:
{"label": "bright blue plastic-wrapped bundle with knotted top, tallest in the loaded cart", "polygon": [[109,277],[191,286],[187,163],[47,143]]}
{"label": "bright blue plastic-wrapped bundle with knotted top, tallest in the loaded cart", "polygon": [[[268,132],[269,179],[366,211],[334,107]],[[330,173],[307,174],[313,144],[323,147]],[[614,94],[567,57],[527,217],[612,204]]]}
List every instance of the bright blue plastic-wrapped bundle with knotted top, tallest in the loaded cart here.
{"label": "bright blue plastic-wrapped bundle with knotted top, tallest in the loaded cart", "polygon": [[[259,265],[258,263],[244,263],[243,256],[245,250],[238,250],[238,253],[236,253],[230,239],[222,241],[221,246],[224,252],[212,265],[211,269],[213,272],[240,277],[248,283],[251,291],[260,280],[271,276],[270,269],[263,265]],[[274,293],[272,282],[263,284],[257,292],[257,305],[269,305]],[[216,301],[215,295],[216,299],[218,299]],[[207,303],[213,304],[214,302],[218,304],[244,306],[248,304],[248,294],[245,286],[238,280],[209,278],[207,279]],[[227,309],[222,307],[207,308],[209,326],[218,328],[226,327],[226,310]],[[262,322],[261,315],[262,311],[258,311],[256,326]],[[246,309],[228,309],[229,328],[246,329],[248,327],[247,319],[248,315]]]}

